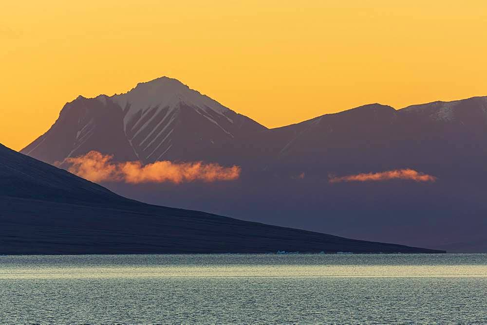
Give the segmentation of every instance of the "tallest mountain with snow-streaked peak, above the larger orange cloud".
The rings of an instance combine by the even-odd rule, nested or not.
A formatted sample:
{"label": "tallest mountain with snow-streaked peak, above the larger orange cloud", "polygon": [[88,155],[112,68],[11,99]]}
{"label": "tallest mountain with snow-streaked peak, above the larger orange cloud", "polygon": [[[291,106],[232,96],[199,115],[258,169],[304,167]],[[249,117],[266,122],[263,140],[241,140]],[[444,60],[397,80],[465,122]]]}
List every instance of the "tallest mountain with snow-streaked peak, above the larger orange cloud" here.
{"label": "tallest mountain with snow-streaked peak, above the larger orange cloud", "polygon": [[56,123],[22,153],[48,163],[96,150],[115,161],[186,161],[202,147],[217,147],[265,127],[176,79],[139,83],[127,93],[78,96]]}

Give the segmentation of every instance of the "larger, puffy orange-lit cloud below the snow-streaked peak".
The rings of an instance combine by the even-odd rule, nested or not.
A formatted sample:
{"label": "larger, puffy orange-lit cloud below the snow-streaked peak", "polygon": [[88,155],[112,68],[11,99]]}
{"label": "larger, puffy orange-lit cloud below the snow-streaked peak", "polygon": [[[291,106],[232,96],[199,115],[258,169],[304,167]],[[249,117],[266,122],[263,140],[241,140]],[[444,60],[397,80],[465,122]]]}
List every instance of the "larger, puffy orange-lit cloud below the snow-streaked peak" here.
{"label": "larger, puffy orange-lit cloud below the snow-streaked peak", "polygon": [[68,171],[84,179],[124,181],[126,183],[183,183],[190,181],[231,181],[240,176],[240,167],[223,167],[217,163],[169,161],[143,165],[141,162],[112,162],[113,156],[90,151],[86,155],[68,158]]}

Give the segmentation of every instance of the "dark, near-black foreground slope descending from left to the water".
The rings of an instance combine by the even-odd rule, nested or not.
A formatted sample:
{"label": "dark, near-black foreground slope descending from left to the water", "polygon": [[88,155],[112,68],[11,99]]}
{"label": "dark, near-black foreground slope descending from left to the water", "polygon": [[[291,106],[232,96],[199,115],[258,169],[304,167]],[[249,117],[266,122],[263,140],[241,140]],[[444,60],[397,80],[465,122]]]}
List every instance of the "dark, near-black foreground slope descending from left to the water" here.
{"label": "dark, near-black foreground slope descending from left to the water", "polygon": [[442,253],[120,197],[0,144],[0,253]]}

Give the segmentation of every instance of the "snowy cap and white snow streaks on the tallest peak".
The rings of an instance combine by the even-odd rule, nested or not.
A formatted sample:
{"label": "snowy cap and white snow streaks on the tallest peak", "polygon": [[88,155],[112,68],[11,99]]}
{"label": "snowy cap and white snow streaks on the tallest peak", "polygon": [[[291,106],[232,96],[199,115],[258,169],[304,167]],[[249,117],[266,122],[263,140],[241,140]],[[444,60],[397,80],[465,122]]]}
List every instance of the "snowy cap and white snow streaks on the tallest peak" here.
{"label": "snowy cap and white snow streaks on the tallest peak", "polygon": [[[175,127],[174,124],[182,108],[193,109],[218,126],[230,138],[235,137],[232,130],[236,125],[234,120],[227,116],[228,114],[233,116],[235,112],[199,91],[190,89],[177,79],[161,77],[139,83],[130,91],[115,94],[110,99],[123,110],[125,134],[141,159],[153,158],[160,149],[164,150],[163,148],[170,141],[169,136],[172,131],[166,132],[169,127]],[[156,141],[158,143],[154,147]],[[164,150],[163,155],[169,148],[170,145]],[[150,150],[150,153],[144,152],[146,150]]]}

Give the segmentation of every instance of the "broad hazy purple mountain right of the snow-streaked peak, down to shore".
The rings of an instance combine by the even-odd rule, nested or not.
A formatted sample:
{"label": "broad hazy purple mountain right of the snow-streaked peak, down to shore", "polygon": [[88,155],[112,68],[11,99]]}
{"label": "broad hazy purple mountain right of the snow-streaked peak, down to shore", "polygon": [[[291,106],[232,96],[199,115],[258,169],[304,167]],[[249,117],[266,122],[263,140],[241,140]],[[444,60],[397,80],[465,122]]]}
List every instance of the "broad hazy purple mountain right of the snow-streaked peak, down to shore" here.
{"label": "broad hazy purple mountain right of the snow-streaked peak, down to shore", "polygon": [[[487,252],[487,97],[398,110],[365,105],[197,150],[190,160],[237,164],[242,175],[225,184],[107,186],[251,221]],[[436,181],[329,182],[407,168]]]}

